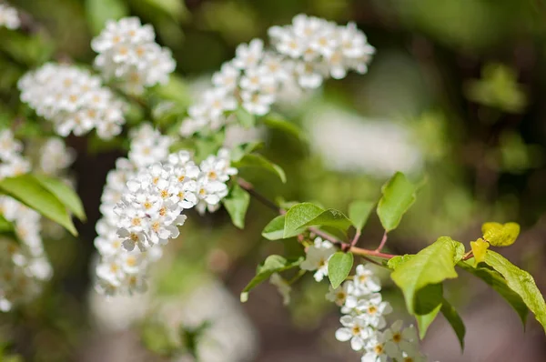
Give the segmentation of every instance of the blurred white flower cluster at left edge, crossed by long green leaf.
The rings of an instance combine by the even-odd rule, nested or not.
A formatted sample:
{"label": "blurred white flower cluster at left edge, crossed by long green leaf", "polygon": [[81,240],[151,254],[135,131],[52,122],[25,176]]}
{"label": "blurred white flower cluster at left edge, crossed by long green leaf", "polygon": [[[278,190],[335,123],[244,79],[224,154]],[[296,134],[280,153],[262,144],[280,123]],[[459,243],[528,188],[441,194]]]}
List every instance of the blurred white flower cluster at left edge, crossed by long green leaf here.
{"label": "blurred white flower cluster at left edge, crossed by long green leaf", "polygon": [[[30,162],[21,155],[23,145],[9,130],[0,132],[0,179],[24,174]],[[0,216],[14,225],[20,243],[0,237],[0,310],[9,311],[37,296],[52,269],[40,236],[41,216],[10,196],[0,196]]]}

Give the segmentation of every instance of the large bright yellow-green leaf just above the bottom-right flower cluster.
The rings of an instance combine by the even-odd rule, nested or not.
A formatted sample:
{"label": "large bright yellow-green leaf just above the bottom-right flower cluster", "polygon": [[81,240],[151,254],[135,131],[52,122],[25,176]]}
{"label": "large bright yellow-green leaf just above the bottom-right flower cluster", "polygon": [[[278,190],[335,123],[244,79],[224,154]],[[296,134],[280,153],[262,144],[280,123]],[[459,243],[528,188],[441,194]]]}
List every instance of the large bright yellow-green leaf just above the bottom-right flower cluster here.
{"label": "large bright yellow-green leaf just above the bottom-right flower cluster", "polygon": [[457,256],[462,255],[460,249],[464,252],[460,242],[441,236],[432,245],[396,266],[390,277],[402,289],[410,314],[415,314],[416,295],[421,288],[457,277],[454,266],[458,262]]}

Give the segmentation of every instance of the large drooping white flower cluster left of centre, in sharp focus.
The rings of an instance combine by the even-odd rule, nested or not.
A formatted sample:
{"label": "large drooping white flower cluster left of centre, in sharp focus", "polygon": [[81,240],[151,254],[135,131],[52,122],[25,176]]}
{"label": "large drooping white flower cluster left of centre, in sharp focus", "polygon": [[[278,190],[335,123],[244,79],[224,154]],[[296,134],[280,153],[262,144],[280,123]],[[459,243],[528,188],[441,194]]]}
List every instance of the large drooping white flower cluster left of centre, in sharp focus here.
{"label": "large drooping white flower cluster left of centre, in sharp focus", "polygon": [[[161,139],[158,134],[156,137]],[[225,149],[199,166],[187,151],[167,157],[166,149],[163,155],[156,155],[152,165],[138,170],[131,160],[133,152],[140,149],[138,143],[133,141],[129,160],[117,162],[118,167],[132,166],[131,172],[115,170],[108,175],[101,206],[105,217],[96,225],[99,236],[95,243],[103,256],[96,268],[97,290],[105,294],[145,290],[147,266],[157,260],[157,250],[168,239],[178,236],[177,226],[187,218],[182,212],[194,206],[200,213],[216,210],[227,196],[229,176],[237,173],[229,166]],[[167,162],[157,162],[162,159]]]}

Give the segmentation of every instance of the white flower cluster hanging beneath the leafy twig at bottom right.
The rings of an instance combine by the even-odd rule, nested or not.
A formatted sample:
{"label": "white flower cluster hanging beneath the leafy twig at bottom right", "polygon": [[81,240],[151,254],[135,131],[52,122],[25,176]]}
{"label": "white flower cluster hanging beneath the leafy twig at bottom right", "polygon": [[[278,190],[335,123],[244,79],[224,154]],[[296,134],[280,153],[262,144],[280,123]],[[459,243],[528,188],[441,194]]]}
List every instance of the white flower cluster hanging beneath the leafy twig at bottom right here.
{"label": "white flower cluster hanging beneath the leafy twig at bottom right", "polygon": [[[315,279],[321,281],[328,276],[329,257],[336,248],[320,237],[309,246],[306,259],[301,263],[303,270],[316,270]],[[385,320],[392,308],[383,301],[379,291],[379,278],[369,265],[359,265],[352,280],[342,286],[330,287],[326,296],[341,307],[344,315],[339,319],[341,325],[336,331],[339,341],[350,342],[355,351],[363,351],[362,362],[385,361],[426,361],[419,351],[419,339],[415,327],[402,329],[402,321],[396,321],[389,328]],[[384,330],[383,330],[384,329]]]}

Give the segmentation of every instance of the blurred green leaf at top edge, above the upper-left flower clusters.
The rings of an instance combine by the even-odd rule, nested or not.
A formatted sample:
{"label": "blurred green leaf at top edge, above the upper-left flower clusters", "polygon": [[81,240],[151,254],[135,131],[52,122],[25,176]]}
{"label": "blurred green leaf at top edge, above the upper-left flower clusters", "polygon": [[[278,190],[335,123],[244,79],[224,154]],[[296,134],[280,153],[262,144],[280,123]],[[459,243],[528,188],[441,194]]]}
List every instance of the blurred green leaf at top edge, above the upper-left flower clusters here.
{"label": "blurred green leaf at top edge, above the upper-left flower clusters", "polygon": [[107,20],[118,20],[129,14],[122,0],[86,0],[87,22],[94,35],[99,34]]}

